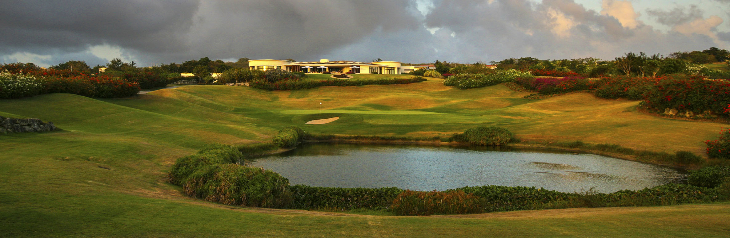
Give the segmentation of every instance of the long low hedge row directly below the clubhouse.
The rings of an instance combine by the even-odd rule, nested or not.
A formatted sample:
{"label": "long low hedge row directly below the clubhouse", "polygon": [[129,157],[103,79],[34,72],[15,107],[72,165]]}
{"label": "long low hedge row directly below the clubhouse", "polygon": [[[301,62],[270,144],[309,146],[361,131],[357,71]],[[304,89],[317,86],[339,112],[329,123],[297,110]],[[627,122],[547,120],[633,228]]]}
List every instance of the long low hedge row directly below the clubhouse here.
{"label": "long low hedge row directly below the clubhouse", "polygon": [[310,89],[315,87],[326,87],[326,86],[362,86],[370,84],[410,84],[415,82],[424,82],[426,79],[421,77],[413,77],[410,79],[361,79],[361,80],[349,80],[349,79],[327,79],[327,80],[283,80],[279,82],[266,82],[266,81],[254,81],[250,82],[250,87],[259,88],[262,90],[301,90]]}

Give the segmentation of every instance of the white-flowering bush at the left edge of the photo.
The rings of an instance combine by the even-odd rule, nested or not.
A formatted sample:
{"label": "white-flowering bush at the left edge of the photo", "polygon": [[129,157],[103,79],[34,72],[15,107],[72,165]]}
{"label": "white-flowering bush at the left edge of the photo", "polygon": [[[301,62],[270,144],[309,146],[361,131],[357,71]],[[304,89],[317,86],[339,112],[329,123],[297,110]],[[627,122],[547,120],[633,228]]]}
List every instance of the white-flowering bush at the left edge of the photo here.
{"label": "white-flowering bush at the left edge of the photo", "polygon": [[29,74],[0,72],[0,98],[25,98],[41,94],[43,82]]}

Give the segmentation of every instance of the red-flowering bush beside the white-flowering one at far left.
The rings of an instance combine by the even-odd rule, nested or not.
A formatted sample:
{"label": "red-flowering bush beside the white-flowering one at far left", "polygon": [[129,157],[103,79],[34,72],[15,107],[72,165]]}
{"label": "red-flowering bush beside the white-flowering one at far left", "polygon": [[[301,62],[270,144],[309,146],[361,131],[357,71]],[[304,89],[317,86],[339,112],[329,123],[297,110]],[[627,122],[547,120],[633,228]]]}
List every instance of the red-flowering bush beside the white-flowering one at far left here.
{"label": "red-flowering bush beside the white-flowering one at far left", "polygon": [[47,77],[43,93],[63,92],[89,98],[121,98],[136,95],[139,84],[111,76]]}

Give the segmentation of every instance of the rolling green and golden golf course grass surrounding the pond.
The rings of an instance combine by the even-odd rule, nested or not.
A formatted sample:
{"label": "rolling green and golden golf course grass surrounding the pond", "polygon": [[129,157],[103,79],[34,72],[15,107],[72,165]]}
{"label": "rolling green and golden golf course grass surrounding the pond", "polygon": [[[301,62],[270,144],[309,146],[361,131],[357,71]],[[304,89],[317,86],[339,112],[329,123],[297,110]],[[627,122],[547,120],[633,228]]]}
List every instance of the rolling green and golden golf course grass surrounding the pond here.
{"label": "rolling green and golden golf course grass surrounding the pond", "polygon": [[[267,142],[291,125],[315,133],[414,137],[496,125],[528,143],[581,140],[696,154],[704,150],[702,141],[727,127],[645,115],[636,111],[638,101],[585,93],[521,98],[527,94],[502,85],[457,90],[429,79],[273,92],[192,85],[121,99],[50,94],[0,100],[2,116],[39,118],[63,129],[0,135],[0,237],[726,236],[730,203],[395,217],[231,207],[186,197],[166,183],[175,159],[207,143]],[[304,124],[331,116],[340,119]]]}

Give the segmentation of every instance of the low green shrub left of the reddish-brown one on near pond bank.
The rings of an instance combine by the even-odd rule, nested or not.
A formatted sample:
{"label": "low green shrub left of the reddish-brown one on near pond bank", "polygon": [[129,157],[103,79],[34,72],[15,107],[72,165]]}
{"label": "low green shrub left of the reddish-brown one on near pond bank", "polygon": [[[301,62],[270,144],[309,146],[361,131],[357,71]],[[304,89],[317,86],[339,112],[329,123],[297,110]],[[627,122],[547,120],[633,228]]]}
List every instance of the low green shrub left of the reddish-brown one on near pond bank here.
{"label": "low green shrub left of the reddish-brown one on near pond bank", "polygon": [[327,188],[305,185],[291,186],[294,209],[388,210],[401,193],[398,188]]}

